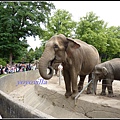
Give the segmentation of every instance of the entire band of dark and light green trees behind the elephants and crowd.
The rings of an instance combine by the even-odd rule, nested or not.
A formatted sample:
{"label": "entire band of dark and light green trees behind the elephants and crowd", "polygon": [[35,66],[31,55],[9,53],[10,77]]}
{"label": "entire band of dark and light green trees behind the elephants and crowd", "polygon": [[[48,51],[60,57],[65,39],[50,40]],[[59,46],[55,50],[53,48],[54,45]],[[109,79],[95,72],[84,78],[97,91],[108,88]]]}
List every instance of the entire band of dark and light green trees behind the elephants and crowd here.
{"label": "entire band of dark and light green trees behind the elephants and crowd", "polygon": [[[55,10],[52,13],[52,10]],[[51,2],[0,2],[0,58],[28,61],[39,59],[47,40],[55,34],[78,38],[95,46],[106,61],[120,57],[120,26],[107,27],[107,23],[93,12],[79,21],[72,20],[69,11],[55,9]],[[42,45],[27,51],[26,37],[39,36]],[[8,56],[9,59],[8,60]]]}

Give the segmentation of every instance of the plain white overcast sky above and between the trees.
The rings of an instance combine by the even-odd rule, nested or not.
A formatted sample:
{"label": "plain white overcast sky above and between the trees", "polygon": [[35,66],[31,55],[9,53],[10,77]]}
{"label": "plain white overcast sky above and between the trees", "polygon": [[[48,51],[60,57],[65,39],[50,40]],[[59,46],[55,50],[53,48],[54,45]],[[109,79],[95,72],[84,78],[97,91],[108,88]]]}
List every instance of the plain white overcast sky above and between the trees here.
{"label": "plain white overcast sky above and between the trees", "polygon": [[[108,26],[120,26],[120,1],[51,1],[56,9],[64,9],[72,14],[73,20],[79,21],[86,13],[93,12]],[[28,44],[35,49],[40,46],[40,40],[29,38]]]}

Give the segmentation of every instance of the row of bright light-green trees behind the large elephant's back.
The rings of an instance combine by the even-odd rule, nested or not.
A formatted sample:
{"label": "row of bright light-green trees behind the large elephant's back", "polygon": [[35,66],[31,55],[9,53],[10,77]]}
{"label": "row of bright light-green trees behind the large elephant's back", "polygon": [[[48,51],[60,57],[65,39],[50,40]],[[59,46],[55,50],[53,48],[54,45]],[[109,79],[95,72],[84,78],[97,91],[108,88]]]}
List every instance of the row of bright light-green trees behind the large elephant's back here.
{"label": "row of bright light-green trees behind the large elephant's back", "polygon": [[100,20],[93,12],[87,13],[76,23],[72,21],[71,16],[65,10],[57,10],[49,19],[43,40],[62,33],[95,46],[102,61],[120,57],[120,27],[107,28],[107,23]]}

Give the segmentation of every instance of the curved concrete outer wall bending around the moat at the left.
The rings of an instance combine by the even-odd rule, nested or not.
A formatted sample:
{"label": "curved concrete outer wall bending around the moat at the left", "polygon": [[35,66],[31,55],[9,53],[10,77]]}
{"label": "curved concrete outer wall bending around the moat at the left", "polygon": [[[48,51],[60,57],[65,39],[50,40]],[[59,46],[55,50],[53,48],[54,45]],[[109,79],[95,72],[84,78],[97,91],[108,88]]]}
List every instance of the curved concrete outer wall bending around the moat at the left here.
{"label": "curved concrete outer wall bending around the moat at the left", "polygon": [[21,85],[18,81],[34,81],[39,78],[38,70],[9,74],[0,78],[0,115],[3,118],[51,118],[51,116],[34,110],[31,106],[17,103],[8,94]]}

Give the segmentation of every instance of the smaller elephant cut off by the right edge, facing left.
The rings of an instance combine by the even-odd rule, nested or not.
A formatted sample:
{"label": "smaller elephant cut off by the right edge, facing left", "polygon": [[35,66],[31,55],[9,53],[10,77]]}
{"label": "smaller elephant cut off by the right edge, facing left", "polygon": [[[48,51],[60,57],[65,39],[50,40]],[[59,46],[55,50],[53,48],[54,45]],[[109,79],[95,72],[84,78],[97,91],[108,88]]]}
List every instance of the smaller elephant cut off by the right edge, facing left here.
{"label": "smaller elephant cut off by the right edge, facing left", "polygon": [[102,80],[102,92],[101,95],[106,95],[106,88],[108,89],[108,96],[113,97],[113,80],[120,80],[120,58],[114,58],[112,60],[100,63],[95,66],[93,71],[93,81],[95,83],[94,92],[96,94],[97,82]]}

